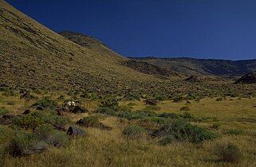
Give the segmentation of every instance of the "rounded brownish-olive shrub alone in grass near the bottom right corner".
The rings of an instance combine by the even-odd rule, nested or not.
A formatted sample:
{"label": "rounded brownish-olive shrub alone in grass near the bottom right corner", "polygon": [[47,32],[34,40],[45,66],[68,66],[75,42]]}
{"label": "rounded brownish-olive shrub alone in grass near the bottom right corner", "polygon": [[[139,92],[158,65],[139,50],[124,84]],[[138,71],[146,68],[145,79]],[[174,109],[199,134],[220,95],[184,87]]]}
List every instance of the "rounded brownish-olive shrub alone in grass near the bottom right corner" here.
{"label": "rounded brownish-olive shrub alone in grass near the bottom right corner", "polygon": [[214,153],[219,157],[221,161],[226,162],[238,162],[242,158],[242,153],[239,150],[238,146],[227,143],[227,144],[218,144],[215,146]]}

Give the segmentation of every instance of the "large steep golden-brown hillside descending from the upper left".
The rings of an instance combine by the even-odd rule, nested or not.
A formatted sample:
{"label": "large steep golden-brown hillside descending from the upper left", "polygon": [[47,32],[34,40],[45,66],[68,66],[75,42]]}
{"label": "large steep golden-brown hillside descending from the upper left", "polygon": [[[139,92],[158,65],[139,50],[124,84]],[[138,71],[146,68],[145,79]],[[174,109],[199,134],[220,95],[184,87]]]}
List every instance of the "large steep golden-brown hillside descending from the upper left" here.
{"label": "large steep golden-brown hillside descending from the upper left", "polygon": [[122,63],[128,59],[104,45],[96,49],[95,45],[81,47],[2,0],[0,6],[0,82],[21,87],[112,91],[158,80],[125,67]]}

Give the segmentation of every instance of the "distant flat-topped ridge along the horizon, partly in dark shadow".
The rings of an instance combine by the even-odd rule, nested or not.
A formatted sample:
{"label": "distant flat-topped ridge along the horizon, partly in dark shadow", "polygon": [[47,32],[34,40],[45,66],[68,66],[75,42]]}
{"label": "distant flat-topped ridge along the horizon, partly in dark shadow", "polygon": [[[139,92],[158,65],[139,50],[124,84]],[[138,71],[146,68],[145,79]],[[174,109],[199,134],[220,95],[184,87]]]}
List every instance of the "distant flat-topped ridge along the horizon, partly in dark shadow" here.
{"label": "distant flat-topped ridge along the horizon, partly in dark shadow", "polygon": [[131,57],[133,60],[143,60],[149,64],[167,68],[187,75],[203,76],[237,76],[247,72],[256,71],[256,60],[213,60],[193,58],[156,58],[156,57]]}

